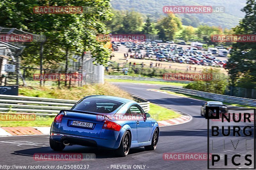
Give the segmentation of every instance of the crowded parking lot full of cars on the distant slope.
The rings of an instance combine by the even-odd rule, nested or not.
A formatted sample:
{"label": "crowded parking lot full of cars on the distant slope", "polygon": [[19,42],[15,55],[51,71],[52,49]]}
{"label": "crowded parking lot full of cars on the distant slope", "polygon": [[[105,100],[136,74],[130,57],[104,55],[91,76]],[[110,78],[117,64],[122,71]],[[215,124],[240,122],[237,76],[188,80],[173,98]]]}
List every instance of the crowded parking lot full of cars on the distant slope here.
{"label": "crowded parking lot full of cars on the distant slope", "polygon": [[[118,48],[118,51],[113,51],[113,54],[115,55],[115,57],[113,57],[111,60],[112,61],[116,61],[118,63],[125,63],[125,62],[128,62],[128,63],[143,63],[144,65],[148,65],[150,66],[150,63],[153,63],[153,65],[155,66],[156,63],[161,64],[160,67],[162,68],[172,68],[172,69],[183,69],[183,70],[187,70],[187,68],[194,70],[195,68],[197,69],[197,71],[199,70],[203,70],[203,69],[210,69],[212,68],[212,66],[214,68],[217,68],[217,69],[220,69],[221,71],[225,72],[226,73],[226,70],[223,68],[223,63],[226,63],[227,60],[228,60],[228,57],[222,57],[222,56],[219,56],[219,55],[206,55],[204,54],[205,50],[201,50],[201,49],[198,49],[198,52],[201,52],[199,54],[192,54],[190,55],[188,52],[188,48],[190,47],[190,45],[178,45],[178,44],[167,44],[167,43],[157,43],[157,46],[159,48],[159,50],[152,50],[153,54],[156,53],[155,51],[157,51],[158,54],[161,54],[162,55],[151,55],[151,57],[144,57],[144,56],[147,56],[146,54],[148,53],[147,52],[147,49],[139,49],[138,50],[138,47],[139,47],[139,44],[142,44],[142,43],[137,43],[137,44],[133,44],[132,42],[128,42],[128,44],[130,45],[133,45],[133,48],[134,49],[137,49],[138,51],[132,51],[132,52],[129,52],[128,50],[130,49],[129,47],[127,48],[127,45],[121,45],[120,42],[115,42],[117,48]],[[145,43],[143,43],[145,44]],[[164,48],[164,47],[160,47],[160,45],[163,44],[165,46],[167,45],[170,45],[170,47],[176,45],[177,47],[176,48],[179,48],[181,52],[184,53],[184,56],[179,56],[179,52],[176,51],[175,52],[175,48],[171,49],[170,47],[168,48]],[[149,46],[149,49],[150,47],[152,46]],[[169,50],[169,51],[168,51]],[[169,52],[169,56],[166,55],[165,57],[163,56],[163,53],[167,53]],[[127,58],[127,60],[125,60],[124,58],[124,53],[128,53],[129,56]],[[136,55],[137,53],[137,56],[134,57],[134,55]],[[141,55],[139,55],[141,54]],[[189,54],[189,55],[188,55]],[[132,57],[131,57],[132,55]],[[141,56],[141,57],[140,57]],[[162,57],[159,57],[159,56],[162,56]],[[181,58],[182,57],[182,58]],[[210,59],[210,57],[214,57],[212,59]],[[197,62],[193,62],[193,59],[191,60],[191,58],[195,58],[195,60]],[[144,59],[144,60],[141,60],[141,59]],[[147,59],[147,60],[145,60]],[[204,63],[201,63],[201,60],[204,61]],[[209,63],[207,63],[207,62]],[[220,63],[219,63],[220,62]],[[195,70],[196,70],[195,69]]]}

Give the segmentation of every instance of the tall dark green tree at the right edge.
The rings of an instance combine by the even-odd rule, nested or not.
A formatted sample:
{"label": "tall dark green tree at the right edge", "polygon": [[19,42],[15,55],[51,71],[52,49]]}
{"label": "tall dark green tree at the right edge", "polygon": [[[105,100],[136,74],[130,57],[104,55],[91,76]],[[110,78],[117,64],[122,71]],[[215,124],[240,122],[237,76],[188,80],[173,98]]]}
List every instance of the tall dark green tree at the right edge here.
{"label": "tall dark green tree at the right edge", "polygon": [[[246,6],[241,10],[244,18],[233,30],[235,34],[256,34],[256,2],[247,0]],[[255,88],[256,86],[256,43],[236,42],[232,46],[231,56],[228,60],[228,72],[232,86]],[[248,78],[248,81],[246,80]],[[246,81],[245,81],[246,80]]]}

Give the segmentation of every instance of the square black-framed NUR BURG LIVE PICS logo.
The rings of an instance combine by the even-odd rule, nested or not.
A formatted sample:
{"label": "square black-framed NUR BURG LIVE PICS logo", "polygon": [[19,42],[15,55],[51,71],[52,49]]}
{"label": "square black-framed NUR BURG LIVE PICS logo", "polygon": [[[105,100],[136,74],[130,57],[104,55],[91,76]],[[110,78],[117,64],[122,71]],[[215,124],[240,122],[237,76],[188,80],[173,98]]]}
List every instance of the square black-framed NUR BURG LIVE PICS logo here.
{"label": "square black-framed NUR BURG LIVE PICS logo", "polygon": [[[255,169],[255,109],[206,106],[208,169]],[[216,121],[218,120],[218,121]]]}

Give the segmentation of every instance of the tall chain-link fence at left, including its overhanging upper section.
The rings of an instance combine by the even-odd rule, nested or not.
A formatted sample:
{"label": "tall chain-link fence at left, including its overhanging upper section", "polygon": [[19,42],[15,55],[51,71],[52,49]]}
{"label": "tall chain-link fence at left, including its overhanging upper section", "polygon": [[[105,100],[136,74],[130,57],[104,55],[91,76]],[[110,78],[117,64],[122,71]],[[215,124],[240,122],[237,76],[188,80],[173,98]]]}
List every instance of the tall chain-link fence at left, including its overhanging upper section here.
{"label": "tall chain-link fence at left, including its overhanging upper section", "polygon": [[[47,64],[48,61],[45,63],[41,62],[41,69],[40,66],[23,67],[20,64],[20,55],[24,48],[26,48],[27,43],[32,41],[43,42],[45,40],[46,37],[44,35],[27,33],[16,28],[0,27],[0,60],[4,60],[4,62],[1,61],[0,67],[2,68],[0,69],[1,85],[35,86],[41,85],[40,82],[42,81],[42,85],[58,86],[62,84],[68,86],[82,86],[104,83],[104,67],[94,65],[94,59],[89,52],[83,56],[74,55],[70,52],[68,61],[54,63],[54,69],[53,67],[49,67],[49,64]],[[38,43],[38,46],[40,46],[40,44],[41,43]],[[43,58],[43,55],[41,58]],[[6,63],[15,65],[16,71],[5,72],[3,67]],[[32,62],[31,65],[33,65]]]}

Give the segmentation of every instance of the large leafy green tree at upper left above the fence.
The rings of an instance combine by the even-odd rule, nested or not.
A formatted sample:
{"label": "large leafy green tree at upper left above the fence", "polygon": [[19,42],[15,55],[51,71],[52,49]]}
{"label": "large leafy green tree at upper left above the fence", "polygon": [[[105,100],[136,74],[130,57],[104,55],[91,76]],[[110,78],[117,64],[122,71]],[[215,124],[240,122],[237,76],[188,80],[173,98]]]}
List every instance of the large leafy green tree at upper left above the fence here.
{"label": "large leafy green tree at upper left above the fence", "polygon": [[[93,9],[81,14],[35,14],[35,6],[85,6]],[[103,48],[104,43],[96,40],[98,33],[107,33],[104,20],[111,17],[109,0],[4,0],[0,2],[1,26],[15,27],[26,32],[44,34],[44,62],[49,65],[56,61],[66,59],[67,47],[69,50],[82,54],[91,50],[95,61],[100,64],[107,63],[108,49]],[[27,44],[22,59],[24,63],[36,65],[40,61],[39,44]],[[95,47],[97,47],[95,49]],[[98,48],[100,47],[100,48]]]}

